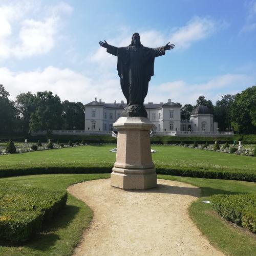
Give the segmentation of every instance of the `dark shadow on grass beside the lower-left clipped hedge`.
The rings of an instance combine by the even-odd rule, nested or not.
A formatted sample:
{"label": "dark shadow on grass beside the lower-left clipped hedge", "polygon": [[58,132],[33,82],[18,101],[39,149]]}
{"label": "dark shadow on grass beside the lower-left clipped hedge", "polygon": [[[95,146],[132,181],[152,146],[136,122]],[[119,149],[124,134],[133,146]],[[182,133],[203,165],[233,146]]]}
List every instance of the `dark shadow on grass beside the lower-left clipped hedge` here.
{"label": "dark shadow on grass beside the lower-left clipped hedge", "polygon": [[38,251],[47,251],[49,247],[53,246],[56,241],[60,239],[56,231],[66,228],[69,223],[75,218],[79,211],[79,207],[74,205],[66,205],[62,211],[59,212],[52,222],[43,226],[43,231],[34,234],[34,236],[27,242],[22,244],[13,244],[9,241],[0,241],[0,246],[8,247],[28,247]]}

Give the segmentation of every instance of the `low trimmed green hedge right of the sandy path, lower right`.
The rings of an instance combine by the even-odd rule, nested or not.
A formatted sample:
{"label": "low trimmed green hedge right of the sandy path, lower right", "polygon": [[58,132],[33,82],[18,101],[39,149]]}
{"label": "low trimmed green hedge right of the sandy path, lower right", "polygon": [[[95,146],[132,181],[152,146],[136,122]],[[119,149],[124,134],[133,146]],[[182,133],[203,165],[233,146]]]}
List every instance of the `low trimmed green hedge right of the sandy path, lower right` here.
{"label": "low trimmed green hedge right of the sandy path, lower right", "polygon": [[214,195],[212,207],[228,221],[256,232],[256,195]]}

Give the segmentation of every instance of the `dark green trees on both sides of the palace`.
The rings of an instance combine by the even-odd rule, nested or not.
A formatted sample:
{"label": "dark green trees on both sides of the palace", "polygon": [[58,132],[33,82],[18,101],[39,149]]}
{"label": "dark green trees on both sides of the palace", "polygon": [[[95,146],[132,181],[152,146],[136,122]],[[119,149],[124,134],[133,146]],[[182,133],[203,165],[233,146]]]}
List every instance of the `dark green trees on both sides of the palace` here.
{"label": "dark green trees on both sides of the palace", "polygon": [[[84,105],[81,102],[60,101],[52,92],[20,93],[15,101],[0,84],[0,134],[31,131],[84,130]],[[256,86],[236,95],[224,95],[212,104],[204,96],[196,105],[185,104],[181,119],[188,120],[192,110],[206,105],[214,113],[220,131],[256,134]]]}

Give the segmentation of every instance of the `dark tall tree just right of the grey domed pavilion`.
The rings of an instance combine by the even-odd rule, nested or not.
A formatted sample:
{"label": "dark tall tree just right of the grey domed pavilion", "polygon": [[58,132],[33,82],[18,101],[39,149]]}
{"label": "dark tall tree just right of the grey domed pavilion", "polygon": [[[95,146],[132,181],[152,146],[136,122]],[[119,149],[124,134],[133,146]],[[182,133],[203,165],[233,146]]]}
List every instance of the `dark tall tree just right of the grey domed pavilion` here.
{"label": "dark tall tree just right of the grey domed pavilion", "polygon": [[214,119],[218,122],[220,131],[231,131],[231,108],[235,95],[221,96],[214,106]]}

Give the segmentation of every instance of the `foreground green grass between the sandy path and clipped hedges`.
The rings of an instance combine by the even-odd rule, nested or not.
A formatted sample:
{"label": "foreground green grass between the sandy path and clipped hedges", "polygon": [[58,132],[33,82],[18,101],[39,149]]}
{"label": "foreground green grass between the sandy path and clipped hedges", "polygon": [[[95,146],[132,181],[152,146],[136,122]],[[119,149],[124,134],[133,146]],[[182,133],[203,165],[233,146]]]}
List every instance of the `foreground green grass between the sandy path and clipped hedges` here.
{"label": "foreground green grass between the sandy path and clipped hedges", "polygon": [[[73,183],[109,177],[109,174],[32,175],[2,178],[0,185],[1,182],[10,182],[29,187],[58,190],[67,188]],[[159,175],[158,178],[187,182],[200,187],[202,197],[191,204],[189,214],[202,233],[214,246],[229,255],[255,255],[255,235],[230,225],[211,210],[210,204],[201,202],[214,194],[256,193],[255,183],[166,175]],[[83,229],[89,226],[91,218],[90,208],[69,195],[65,210],[49,226],[45,227],[44,232],[21,246],[11,246],[3,241],[0,242],[0,255],[72,255]]]}

